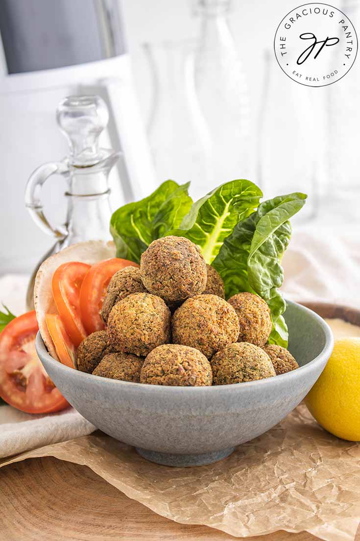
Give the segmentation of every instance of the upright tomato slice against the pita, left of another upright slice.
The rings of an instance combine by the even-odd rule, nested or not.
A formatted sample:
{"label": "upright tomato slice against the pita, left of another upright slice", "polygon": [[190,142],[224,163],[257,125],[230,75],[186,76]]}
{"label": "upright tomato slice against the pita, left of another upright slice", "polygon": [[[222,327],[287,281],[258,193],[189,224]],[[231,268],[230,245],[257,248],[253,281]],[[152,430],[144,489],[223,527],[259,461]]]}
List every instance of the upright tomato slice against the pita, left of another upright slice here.
{"label": "upright tomato slice against the pita, left of another upright slice", "polygon": [[56,308],[75,347],[86,338],[80,313],[80,288],[89,269],[90,265],[73,261],[60,265],[52,276]]}

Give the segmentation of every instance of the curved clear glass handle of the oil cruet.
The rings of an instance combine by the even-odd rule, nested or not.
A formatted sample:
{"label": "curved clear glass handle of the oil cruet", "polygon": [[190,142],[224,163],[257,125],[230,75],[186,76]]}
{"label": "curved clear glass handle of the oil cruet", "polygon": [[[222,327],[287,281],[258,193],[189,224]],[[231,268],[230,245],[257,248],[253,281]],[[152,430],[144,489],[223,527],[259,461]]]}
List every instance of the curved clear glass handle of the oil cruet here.
{"label": "curved clear glass handle of the oil cruet", "polygon": [[46,235],[55,237],[57,240],[64,239],[68,235],[68,230],[64,225],[52,227],[43,213],[43,203],[41,201],[41,189],[44,182],[55,173],[63,174],[67,168],[63,162],[51,162],[35,169],[30,176],[25,188],[25,207],[36,225],[43,230]]}

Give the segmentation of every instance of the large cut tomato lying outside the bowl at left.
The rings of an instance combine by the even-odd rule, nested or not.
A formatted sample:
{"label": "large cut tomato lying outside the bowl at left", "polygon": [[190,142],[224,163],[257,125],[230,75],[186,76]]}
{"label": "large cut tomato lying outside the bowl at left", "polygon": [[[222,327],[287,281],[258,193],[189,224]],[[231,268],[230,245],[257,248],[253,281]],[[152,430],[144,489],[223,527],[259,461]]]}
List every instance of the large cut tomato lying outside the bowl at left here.
{"label": "large cut tomato lying outside the bowl at left", "polygon": [[0,334],[0,397],[27,413],[51,413],[69,404],[38,358],[35,311],[10,321]]}

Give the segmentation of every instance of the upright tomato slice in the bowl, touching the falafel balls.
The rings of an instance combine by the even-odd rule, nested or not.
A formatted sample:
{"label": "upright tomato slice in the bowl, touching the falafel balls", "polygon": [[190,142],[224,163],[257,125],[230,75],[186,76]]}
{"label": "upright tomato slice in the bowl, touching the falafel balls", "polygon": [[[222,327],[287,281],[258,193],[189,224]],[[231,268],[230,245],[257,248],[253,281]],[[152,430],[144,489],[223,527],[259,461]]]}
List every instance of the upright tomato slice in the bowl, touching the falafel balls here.
{"label": "upright tomato slice in the bowl, touching the falafel balls", "polygon": [[95,263],[86,274],[80,291],[80,311],[84,327],[89,334],[105,328],[100,311],[106,289],[112,276],[129,265],[138,267],[137,263],[127,259],[105,259]]}

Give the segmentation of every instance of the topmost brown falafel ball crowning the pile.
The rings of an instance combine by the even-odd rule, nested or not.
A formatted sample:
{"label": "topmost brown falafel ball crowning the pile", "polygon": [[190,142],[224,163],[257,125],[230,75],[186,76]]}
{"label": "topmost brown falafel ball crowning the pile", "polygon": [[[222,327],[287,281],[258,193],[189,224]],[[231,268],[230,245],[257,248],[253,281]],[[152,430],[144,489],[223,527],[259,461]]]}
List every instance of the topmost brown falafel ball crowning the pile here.
{"label": "topmost brown falafel ball crowning the pile", "polygon": [[198,247],[177,236],[151,242],[141,256],[140,270],[146,289],[170,306],[202,293],[208,276]]}

